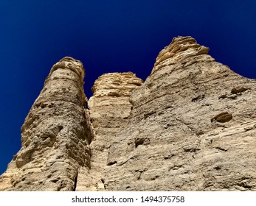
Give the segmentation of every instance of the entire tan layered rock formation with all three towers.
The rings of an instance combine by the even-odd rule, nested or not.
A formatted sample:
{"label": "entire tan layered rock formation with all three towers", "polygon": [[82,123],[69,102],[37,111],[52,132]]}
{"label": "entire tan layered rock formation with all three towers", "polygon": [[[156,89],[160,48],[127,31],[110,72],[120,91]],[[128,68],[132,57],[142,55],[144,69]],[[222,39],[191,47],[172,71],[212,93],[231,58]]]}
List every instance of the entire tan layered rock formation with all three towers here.
{"label": "entire tan layered rock formation with all three towers", "polygon": [[[1,191],[256,191],[256,81],[173,38],[144,83],[52,67]],[[88,108],[87,105],[88,104]]]}

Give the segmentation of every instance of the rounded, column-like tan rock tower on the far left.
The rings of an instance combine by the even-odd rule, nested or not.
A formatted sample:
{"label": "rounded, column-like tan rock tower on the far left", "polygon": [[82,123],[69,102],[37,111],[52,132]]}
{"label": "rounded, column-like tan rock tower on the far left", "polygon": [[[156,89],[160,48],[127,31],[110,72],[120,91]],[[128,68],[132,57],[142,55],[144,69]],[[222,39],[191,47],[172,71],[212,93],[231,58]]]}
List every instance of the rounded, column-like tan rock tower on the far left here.
{"label": "rounded, column-like tan rock tower on the far left", "polygon": [[0,191],[73,191],[78,168],[90,167],[92,132],[84,110],[84,68],[56,63],[21,127],[21,150],[0,177]]}

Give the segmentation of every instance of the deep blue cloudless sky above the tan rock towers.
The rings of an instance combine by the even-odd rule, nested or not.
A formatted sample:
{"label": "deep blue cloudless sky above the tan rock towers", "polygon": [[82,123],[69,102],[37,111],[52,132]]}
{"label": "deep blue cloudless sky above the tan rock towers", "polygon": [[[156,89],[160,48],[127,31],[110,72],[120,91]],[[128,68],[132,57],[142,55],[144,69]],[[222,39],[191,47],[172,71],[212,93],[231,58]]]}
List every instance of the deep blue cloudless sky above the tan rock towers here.
{"label": "deep blue cloudless sky above the tan rock towers", "polygon": [[173,37],[191,35],[216,60],[256,78],[256,1],[0,1],[0,174],[21,147],[20,127],[54,63],[86,68],[85,90],[101,74],[145,80]]}

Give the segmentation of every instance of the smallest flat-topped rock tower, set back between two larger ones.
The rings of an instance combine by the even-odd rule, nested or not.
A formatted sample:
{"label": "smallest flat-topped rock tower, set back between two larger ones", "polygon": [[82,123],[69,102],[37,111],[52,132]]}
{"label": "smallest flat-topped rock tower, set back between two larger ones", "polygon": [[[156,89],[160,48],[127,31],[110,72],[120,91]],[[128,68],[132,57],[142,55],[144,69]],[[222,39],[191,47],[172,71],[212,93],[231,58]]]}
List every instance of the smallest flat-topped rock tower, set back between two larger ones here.
{"label": "smallest flat-topped rock tower, set back between two larger ones", "polygon": [[[91,141],[91,169],[80,168],[77,191],[104,191],[103,168],[107,165],[108,149],[114,135],[128,124],[132,104],[131,93],[140,85],[131,72],[103,74],[94,83],[93,96],[89,99],[89,116],[94,130]],[[109,163],[111,165],[114,163]]]}

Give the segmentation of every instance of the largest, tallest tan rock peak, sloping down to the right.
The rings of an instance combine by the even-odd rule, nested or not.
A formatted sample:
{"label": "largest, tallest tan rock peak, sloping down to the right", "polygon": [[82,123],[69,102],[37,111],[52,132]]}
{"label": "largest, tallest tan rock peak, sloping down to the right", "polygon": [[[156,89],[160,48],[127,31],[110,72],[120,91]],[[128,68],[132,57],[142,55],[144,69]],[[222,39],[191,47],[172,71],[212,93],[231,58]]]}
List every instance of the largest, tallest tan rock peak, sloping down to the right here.
{"label": "largest, tallest tan rock peak, sloping down to the right", "polygon": [[107,191],[256,191],[256,81],[174,38],[134,93],[103,171]]}

